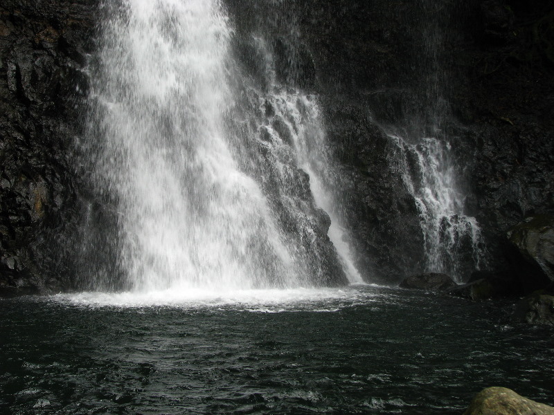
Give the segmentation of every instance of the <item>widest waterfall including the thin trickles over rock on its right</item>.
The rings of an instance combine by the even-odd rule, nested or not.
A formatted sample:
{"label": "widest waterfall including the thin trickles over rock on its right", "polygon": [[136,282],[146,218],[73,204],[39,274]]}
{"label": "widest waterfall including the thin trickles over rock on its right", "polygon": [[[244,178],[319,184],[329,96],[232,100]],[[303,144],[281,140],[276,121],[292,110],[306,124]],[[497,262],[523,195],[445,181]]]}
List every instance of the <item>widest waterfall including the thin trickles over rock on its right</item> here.
{"label": "widest waterfall including the thin trickles over rock on its right", "polygon": [[[321,208],[330,203],[314,190],[316,207],[310,192],[318,178],[308,167],[323,161],[306,161],[299,118],[286,126],[294,143],[274,133],[277,119],[298,114],[247,85],[220,1],[125,0],[104,8],[82,153],[96,204],[112,219],[95,225],[94,215],[87,216],[85,233],[102,234],[103,242],[89,237],[83,250],[100,252],[96,259],[105,263],[94,268],[92,288],[345,281],[326,237]],[[300,93],[294,99],[303,100]],[[352,275],[351,261],[342,257]]]}

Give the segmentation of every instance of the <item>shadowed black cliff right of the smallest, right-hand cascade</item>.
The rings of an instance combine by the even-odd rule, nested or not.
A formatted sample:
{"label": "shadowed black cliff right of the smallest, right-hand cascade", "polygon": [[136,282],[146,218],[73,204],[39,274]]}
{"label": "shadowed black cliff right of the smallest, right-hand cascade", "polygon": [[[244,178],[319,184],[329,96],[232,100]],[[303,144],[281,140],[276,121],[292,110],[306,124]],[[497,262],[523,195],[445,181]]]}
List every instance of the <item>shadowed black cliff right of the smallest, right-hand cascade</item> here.
{"label": "shadowed black cliff right of the smallest, right-hand cascade", "polygon": [[481,26],[475,35],[481,50],[464,51],[474,62],[467,75],[474,96],[458,94],[457,104],[474,136],[472,204],[488,239],[490,268],[509,271],[521,268],[514,262],[521,256],[503,234],[554,210],[554,66],[544,48],[554,10],[544,1],[500,3],[513,12],[510,38],[494,42]]}

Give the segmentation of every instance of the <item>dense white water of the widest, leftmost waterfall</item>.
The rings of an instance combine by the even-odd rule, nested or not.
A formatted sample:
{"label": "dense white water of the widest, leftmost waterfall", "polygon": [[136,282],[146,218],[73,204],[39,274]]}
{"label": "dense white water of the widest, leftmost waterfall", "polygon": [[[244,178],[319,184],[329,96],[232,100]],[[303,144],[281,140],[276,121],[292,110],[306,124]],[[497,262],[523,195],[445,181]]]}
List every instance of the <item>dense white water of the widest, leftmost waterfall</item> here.
{"label": "dense white water of the widest, leftmost waterfall", "polygon": [[231,29],[217,0],[107,5],[91,140],[128,288],[309,284],[233,154]]}

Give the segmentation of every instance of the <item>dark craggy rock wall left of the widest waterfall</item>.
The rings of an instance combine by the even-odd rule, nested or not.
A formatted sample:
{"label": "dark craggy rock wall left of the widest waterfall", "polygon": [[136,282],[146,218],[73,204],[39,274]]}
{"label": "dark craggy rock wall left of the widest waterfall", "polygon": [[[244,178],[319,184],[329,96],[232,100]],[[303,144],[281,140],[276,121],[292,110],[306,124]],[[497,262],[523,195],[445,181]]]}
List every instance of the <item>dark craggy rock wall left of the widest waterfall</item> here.
{"label": "dark craggy rock wall left of the widest waterfall", "polygon": [[0,7],[0,295],[71,285],[60,239],[75,226],[70,149],[93,12],[84,0]]}

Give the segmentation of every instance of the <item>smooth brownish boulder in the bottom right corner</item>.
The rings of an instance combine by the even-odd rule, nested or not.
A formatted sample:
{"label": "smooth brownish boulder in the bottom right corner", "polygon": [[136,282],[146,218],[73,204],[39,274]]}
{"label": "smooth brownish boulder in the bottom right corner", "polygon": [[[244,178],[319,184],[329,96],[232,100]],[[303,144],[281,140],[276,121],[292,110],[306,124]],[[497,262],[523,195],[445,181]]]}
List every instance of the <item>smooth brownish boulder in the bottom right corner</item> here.
{"label": "smooth brownish boulder in the bottom right corner", "polygon": [[554,415],[554,408],[505,387],[488,387],[473,398],[464,415]]}

